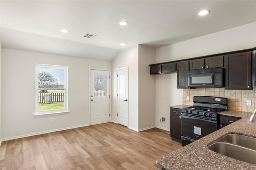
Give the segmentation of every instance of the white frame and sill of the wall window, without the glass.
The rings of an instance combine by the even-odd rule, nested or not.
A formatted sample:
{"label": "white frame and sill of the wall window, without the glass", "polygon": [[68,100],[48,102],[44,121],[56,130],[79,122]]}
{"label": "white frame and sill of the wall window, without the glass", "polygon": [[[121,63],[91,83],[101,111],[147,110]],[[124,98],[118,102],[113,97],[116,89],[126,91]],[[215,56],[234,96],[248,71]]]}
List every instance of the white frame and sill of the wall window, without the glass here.
{"label": "white frame and sill of the wall window, without the glass", "polygon": [[[46,68],[61,68],[64,69],[64,87],[63,88],[38,88],[38,69],[40,67]],[[49,115],[49,114],[65,114],[68,113],[68,66],[59,66],[59,65],[50,65],[50,64],[36,64],[36,115]],[[46,111],[39,111],[38,109],[38,98],[39,98],[39,90],[63,90],[64,89],[64,109],[52,109]]]}

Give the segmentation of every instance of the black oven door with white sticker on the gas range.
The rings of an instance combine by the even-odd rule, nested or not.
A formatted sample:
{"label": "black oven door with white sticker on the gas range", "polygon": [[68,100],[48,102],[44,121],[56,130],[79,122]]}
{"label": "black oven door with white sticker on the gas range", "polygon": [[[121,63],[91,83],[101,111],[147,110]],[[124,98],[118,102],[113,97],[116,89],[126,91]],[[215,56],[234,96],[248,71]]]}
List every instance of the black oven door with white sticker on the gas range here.
{"label": "black oven door with white sticker on the gas range", "polygon": [[181,135],[200,139],[217,130],[217,119],[181,113]]}

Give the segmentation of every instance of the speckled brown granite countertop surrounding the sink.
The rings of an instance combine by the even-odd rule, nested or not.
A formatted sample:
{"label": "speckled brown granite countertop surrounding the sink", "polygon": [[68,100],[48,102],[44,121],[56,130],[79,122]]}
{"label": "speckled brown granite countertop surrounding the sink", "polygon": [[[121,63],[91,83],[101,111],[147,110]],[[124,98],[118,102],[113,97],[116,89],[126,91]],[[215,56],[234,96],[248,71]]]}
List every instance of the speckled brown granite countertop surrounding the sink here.
{"label": "speckled brown granite countertop surrounding the sink", "polygon": [[256,169],[256,165],[242,162],[216,153],[207,146],[227,133],[238,133],[256,137],[256,123],[249,121],[252,113],[224,111],[221,115],[243,117],[242,119],[219,129],[185,147],[182,147],[158,160],[156,164],[166,170],[174,169]]}

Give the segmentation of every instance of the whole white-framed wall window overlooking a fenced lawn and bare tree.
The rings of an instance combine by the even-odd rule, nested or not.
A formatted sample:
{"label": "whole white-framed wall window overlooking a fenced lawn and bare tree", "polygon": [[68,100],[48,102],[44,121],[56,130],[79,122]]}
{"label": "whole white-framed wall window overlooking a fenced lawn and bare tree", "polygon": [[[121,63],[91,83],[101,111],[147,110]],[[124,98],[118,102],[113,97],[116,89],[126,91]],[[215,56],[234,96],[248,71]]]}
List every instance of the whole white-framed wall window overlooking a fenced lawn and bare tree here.
{"label": "whole white-framed wall window overlooking a fenced lawn and bare tree", "polygon": [[67,66],[36,64],[36,115],[68,111]]}

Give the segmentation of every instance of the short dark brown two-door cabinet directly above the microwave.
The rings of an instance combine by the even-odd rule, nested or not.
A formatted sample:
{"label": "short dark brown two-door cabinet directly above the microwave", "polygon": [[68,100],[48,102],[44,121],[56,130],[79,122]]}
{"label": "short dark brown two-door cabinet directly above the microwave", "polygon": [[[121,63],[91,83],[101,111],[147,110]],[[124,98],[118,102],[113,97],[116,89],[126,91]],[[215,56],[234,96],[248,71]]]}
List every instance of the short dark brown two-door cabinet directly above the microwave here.
{"label": "short dark brown two-door cabinet directly above the microwave", "polygon": [[189,61],[189,70],[223,67],[223,55]]}

